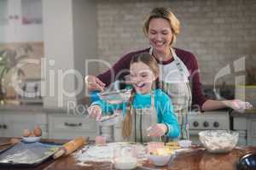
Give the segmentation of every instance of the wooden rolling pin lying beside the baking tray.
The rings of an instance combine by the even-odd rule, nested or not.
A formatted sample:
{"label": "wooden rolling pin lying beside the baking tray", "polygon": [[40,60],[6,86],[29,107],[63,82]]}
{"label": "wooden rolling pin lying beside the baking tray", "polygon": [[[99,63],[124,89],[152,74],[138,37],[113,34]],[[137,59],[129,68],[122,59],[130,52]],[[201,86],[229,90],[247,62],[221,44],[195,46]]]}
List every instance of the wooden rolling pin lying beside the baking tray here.
{"label": "wooden rolling pin lying beside the baking tray", "polygon": [[73,140],[67,142],[66,144],[63,144],[61,146],[61,148],[58,151],[56,151],[56,153],[54,155],[54,159],[57,159],[58,157],[61,157],[61,156],[67,156],[67,155],[71,154],[74,150],[79,149],[80,146],[85,144],[85,141],[87,142],[88,139],[79,137],[77,139],[73,139]]}

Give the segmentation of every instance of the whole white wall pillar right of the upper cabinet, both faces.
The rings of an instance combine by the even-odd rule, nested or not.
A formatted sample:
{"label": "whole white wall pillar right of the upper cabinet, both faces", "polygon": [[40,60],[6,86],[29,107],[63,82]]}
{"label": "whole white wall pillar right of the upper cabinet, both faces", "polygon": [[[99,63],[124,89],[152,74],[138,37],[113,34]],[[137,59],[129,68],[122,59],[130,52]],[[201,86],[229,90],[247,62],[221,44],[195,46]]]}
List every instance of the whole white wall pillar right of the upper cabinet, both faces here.
{"label": "whole white wall pillar right of the upper cabinet, both faces", "polygon": [[[92,0],[44,0],[44,107],[67,108],[84,97],[85,59],[96,59],[96,3]],[[50,65],[54,60],[55,65]],[[96,74],[91,65],[90,74]],[[67,72],[68,71],[68,72]],[[76,71],[76,74],[70,71]],[[55,77],[51,74],[55,73]],[[64,79],[61,75],[67,74]],[[79,89],[82,89],[79,91]],[[52,93],[52,94],[51,94]],[[71,94],[72,95],[67,95]]]}

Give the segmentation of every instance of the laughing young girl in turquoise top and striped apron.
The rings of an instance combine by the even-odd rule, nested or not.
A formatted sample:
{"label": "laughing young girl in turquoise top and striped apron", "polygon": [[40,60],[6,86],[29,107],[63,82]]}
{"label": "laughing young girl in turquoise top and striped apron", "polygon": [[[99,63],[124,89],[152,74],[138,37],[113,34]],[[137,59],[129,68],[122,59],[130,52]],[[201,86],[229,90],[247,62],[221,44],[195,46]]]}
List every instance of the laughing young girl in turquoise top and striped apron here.
{"label": "laughing young girl in turquoise top and striped apron", "polygon": [[100,117],[114,109],[126,107],[122,127],[124,139],[148,142],[166,135],[172,139],[179,136],[177,116],[172,101],[160,89],[154,89],[159,76],[159,66],[151,54],[137,54],[131,59],[130,73],[133,91],[130,102],[125,105],[110,105],[102,100],[88,109],[91,117]]}

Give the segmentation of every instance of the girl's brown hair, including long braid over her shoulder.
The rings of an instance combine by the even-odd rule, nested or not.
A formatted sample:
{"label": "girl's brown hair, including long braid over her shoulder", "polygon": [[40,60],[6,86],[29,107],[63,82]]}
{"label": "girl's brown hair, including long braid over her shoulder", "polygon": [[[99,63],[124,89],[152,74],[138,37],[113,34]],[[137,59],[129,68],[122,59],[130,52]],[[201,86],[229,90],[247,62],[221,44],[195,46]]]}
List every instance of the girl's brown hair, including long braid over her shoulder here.
{"label": "girl's brown hair, including long braid over her shoulder", "polygon": [[[130,65],[138,62],[143,62],[143,64],[148,65],[148,67],[154,73],[154,77],[159,76],[160,69],[159,69],[159,65],[157,64],[157,61],[154,59],[154,56],[148,53],[137,54],[131,59]],[[135,95],[135,90],[133,89],[131,92],[131,98],[129,99],[125,120],[123,122],[122,135],[124,139],[129,138],[132,133],[131,105],[133,102],[134,95]]]}

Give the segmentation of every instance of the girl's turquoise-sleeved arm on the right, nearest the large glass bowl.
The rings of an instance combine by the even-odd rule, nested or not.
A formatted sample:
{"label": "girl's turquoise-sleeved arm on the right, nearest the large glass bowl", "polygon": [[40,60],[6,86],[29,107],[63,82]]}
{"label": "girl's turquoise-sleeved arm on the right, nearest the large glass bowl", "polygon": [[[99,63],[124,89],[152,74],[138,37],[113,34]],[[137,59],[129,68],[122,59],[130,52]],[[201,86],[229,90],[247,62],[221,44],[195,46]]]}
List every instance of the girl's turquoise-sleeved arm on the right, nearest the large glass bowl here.
{"label": "girl's turquoise-sleeved arm on the right, nearest the large glass bowl", "polygon": [[177,122],[177,116],[173,111],[172,100],[163,92],[160,93],[160,96],[158,96],[157,99],[159,122],[166,124],[166,127],[168,128],[166,132],[167,136],[177,138],[180,134],[180,127]]}

